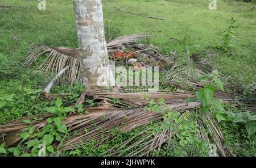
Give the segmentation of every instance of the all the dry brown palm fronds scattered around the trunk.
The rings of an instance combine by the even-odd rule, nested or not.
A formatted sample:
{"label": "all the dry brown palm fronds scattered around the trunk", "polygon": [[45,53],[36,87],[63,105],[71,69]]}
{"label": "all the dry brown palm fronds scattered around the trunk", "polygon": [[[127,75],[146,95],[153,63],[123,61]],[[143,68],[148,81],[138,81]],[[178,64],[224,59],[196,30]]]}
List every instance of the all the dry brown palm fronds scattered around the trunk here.
{"label": "all the dry brown palm fronds scattered around the trunk", "polygon": [[[84,106],[83,111],[86,114],[84,112],[71,113],[62,120],[69,128],[70,135],[69,137],[64,136],[60,142],[54,142],[54,148],[59,151],[56,156],[65,150],[89,145],[92,141],[97,141],[95,148],[107,141],[115,141],[116,137],[109,131],[114,128],[118,128],[120,132],[129,132],[137,128],[143,129],[121,144],[106,150],[102,156],[150,156],[152,151],[160,152],[169,140],[175,140],[175,128],[179,127],[179,124],[175,124],[173,129],[160,129],[157,133],[151,132],[152,128],[147,127],[147,125],[165,122],[164,114],[168,111],[179,112],[181,122],[187,121],[188,118],[195,121],[199,125],[199,132],[196,132],[199,139],[207,141],[209,144],[216,144],[220,156],[235,156],[229,146],[225,144],[224,136],[218,128],[218,124],[209,112],[204,113],[199,119],[188,117],[189,114],[199,114],[202,106],[200,102],[186,102],[195,96],[193,91],[203,87],[203,84],[195,79],[214,69],[207,58],[200,57],[201,54],[208,54],[208,51],[193,54],[188,57],[187,64],[180,65],[175,56],[171,62],[168,62],[166,57],[156,51],[157,48],[154,46],[134,45],[136,41],[145,37],[142,34],[137,34],[121,36],[111,41],[108,44],[110,58],[122,65],[130,64],[130,59],[136,59],[135,62],[131,62],[134,67],[160,65],[167,79],[162,83],[160,82],[160,86],[168,83],[168,85],[176,87],[177,91],[148,93],[147,91],[135,92],[119,88],[117,91],[102,90],[96,92],[94,102],[97,102],[97,106]],[[61,81],[67,81],[71,85],[79,81],[79,49],[35,44],[32,45],[29,52],[27,65],[31,65],[38,57],[48,53],[46,61],[39,67],[40,71],[58,74],[66,68],[67,70],[61,76]],[[140,58],[143,59],[139,61]],[[135,63],[139,65],[134,65]],[[170,68],[166,70],[166,67]],[[84,96],[81,94],[76,104],[86,104]],[[220,90],[217,90],[214,96],[215,99],[222,99],[226,103],[237,100],[234,94],[222,93]],[[159,99],[164,99],[164,104],[157,104]],[[156,104],[158,108],[154,110],[152,107]],[[69,106],[74,105],[69,104]],[[163,110],[158,112],[157,109]],[[47,124],[47,119],[51,116],[53,114],[47,113],[37,116],[40,120],[35,120],[35,117],[31,116],[0,125],[0,134],[3,137],[1,141],[4,140],[7,146],[15,146],[21,140],[19,134],[23,132],[24,128],[31,125],[24,123],[24,121],[31,120],[35,130],[40,130]],[[193,152],[189,155],[193,156]]]}

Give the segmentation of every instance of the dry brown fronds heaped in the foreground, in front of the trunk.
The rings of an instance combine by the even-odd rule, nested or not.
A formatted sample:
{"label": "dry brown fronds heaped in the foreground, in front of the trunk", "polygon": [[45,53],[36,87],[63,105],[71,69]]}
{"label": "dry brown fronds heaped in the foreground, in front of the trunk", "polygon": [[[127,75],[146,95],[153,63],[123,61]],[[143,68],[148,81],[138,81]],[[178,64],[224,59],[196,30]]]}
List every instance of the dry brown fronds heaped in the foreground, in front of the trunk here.
{"label": "dry brown fronds heaped in the foreground, in front of the trunk", "polygon": [[[107,108],[102,109],[102,106],[104,107],[104,104],[102,104],[99,107],[84,108],[85,111],[89,111],[89,114],[69,115],[67,118],[63,119],[63,123],[70,129],[71,136],[60,146],[60,151],[89,145],[93,140],[97,141],[97,146],[104,144],[105,141],[111,141],[114,137],[108,131],[112,128],[118,127],[121,132],[128,132],[135,128],[142,127],[143,125],[150,124],[152,121],[163,121],[163,114],[148,111],[143,108],[150,104],[150,100],[142,99],[143,96],[154,100],[164,98],[164,101],[171,110],[177,110],[181,113],[181,119],[184,114],[196,112],[196,109],[201,107],[200,102],[184,103],[185,100],[193,96],[185,93],[96,93],[96,96],[98,99],[105,99],[107,101],[108,99],[120,98],[120,102],[118,102],[117,105],[133,108],[122,110],[117,109],[117,107],[114,106],[108,106]],[[20,141],[19,133],[30,125],[24,123],[24,120],[29,119],[32,121],[35,129],[42,129],[47,123],[47,118],[51,116],[51,114],[40,115],[38,117],[42,120],[39,121],[34,121],[34,117],[26,117],[0,125],[0,133],[3,135],[6,145],[15,146]],[[92,121],[94,123],[93,125]],[[204,114],[203,119],[198,122],[201,123],[200,140],[208,140],[217,144],[221,156],[232,156],[232,151],[227,148],[224,149],[224,137],[212,116],[210,114]],[[87,130],[86,133],[84,132],[85,129]],[[205,129],[210,130],[208,136],[205,133]],[[76,131],[76,133],[72,133],[73,131]],[[144,129],[139,135],[133,137],[134,139],[137,136],[145,136],[144,141],[135,141],[128,149],[123,150],[116,150],[115,148],[122,147],[116,146],[114,149],[108,151],[106,155],[122,156],[123,151],[127,153],[129,152],[129,149],[133,149],[134,146],[141,146],[143,148],[138,148],[135,151],[131,150],[131,153],[127,154],[127,156],[148,156],[152,149],[160,150],[161,146],[163,146],[169,138],[172,138],[173,135],[174,133],[172,130],[163,131],[162,133],[153,135],[148,134],[148,130]],[[133,142],[132,140],[129,139],[123,143],[129,144],[129,142]],[[59,142],[56,142],[55,148],[59,145]],[[116,151],[120,153],[116,153]]]}

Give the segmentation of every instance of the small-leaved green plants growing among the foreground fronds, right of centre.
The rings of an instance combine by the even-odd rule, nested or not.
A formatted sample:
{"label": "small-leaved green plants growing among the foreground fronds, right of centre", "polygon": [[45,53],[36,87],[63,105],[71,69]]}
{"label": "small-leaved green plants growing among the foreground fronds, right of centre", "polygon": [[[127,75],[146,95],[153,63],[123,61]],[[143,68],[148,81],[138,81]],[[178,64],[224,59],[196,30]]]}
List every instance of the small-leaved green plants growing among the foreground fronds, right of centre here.
{"label": "small-leaved green plants growing among the foreground fronds, right of centre", "polygon": [[166,131],[172,132],[172,138],[163,146],[160,152],[152,151],[152,156],[189,156],[196,151],[195,156],[207,156],[208,146],[198,137],[199,125],[193,120],[192,114],[171,110],[164,99],[149,99],[150,103],[144,109],[148,112],[163,114],[163,121],[152,124],[150,132],[156,136]]}

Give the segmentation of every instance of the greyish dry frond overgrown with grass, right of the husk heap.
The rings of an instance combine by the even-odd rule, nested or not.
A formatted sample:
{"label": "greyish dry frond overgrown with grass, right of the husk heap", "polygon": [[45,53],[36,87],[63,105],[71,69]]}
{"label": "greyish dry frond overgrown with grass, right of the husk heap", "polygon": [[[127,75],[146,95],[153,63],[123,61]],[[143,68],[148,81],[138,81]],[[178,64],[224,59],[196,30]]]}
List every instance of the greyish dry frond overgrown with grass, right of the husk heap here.
{"label": "greyish dry frond overgrown with grass, right of the husk heap", "polygon": [[[202,57],[202,55],[207,56]],[[196,79],[211,73],[212,70],[217,69],[212,61],[212,57],[215,55],[215,53],[210,53],[209,51],[195,53],[188,57],[187,63],[181,64],[176,59],[174,64],[172,64],[171,69],[166,73],[166,79],[163,82],[160,82],[160,85],[162,85],[162,83],[167,83],[174,85],[181,90],[198,91],[204,87],[204,83],[199,82]],[[226,80],[223,79],[222,81],[224,81],[225,85]],[[221,90],[216,90],[214,95],[218,96],[218,98],[235,98],[237,95],[243,94],[243,89],[241,86],[229,86],[226,84],[225,90],[232,91],[232,94],[227,94],[223,93]]]}

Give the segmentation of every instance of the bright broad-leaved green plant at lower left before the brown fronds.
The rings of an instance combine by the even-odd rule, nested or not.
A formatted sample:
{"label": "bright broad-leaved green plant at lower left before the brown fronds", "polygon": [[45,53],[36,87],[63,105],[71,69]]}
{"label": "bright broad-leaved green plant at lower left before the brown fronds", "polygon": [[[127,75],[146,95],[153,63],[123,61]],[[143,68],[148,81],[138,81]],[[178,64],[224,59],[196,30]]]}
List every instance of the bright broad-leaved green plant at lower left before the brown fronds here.
{"label": "bright broad-leaved green plant at lower left before the brown fronds", "polygon": [[33,123],[41,118],[34,117],[34,120],[24,120],[24,123],[31,124],[20,133],[20,142],[14,148],[9,148],[9,153],[14,156],[51,156],[58,149],[54,149],[53,141],[61,141],[68,133],[67,126],[62,120],[67,117],[68,112],[75,111],[72,107],[63,107],[61,98],[57,98],[55,106],[47,107],[46,110],[53,114],[47,119],[47,124],[39,130]]}

